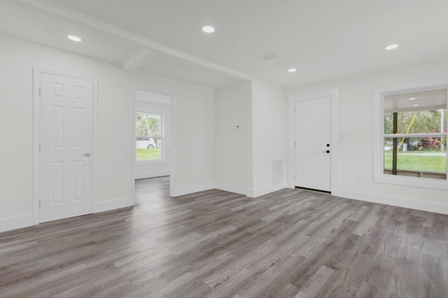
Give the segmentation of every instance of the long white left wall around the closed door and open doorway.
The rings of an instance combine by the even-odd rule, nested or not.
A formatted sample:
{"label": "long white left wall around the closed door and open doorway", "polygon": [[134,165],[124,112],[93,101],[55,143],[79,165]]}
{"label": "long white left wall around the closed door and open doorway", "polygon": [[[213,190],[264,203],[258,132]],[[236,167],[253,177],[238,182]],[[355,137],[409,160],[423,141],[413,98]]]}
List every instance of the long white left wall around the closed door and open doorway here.
{"label": "long white left wall around the closed door and open doorway", "polygon": [[132,204],[135,89],[176,99],[174,193],[207,189],[214,177],[214,90],[0,35],[0,231],[33,224],[32,69],[98,80],[95,211]]}

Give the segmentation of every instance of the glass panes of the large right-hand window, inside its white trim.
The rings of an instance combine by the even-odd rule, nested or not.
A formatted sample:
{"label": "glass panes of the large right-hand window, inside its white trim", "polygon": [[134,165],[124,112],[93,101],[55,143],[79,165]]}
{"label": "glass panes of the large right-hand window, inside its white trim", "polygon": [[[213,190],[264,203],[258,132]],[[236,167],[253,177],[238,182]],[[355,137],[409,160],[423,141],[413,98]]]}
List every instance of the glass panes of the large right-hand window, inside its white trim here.
{"label": "glass panes of the large right-hand window, inside its white trim", "polygon": [[385,174],[446,180],[447,90],[384,97],[383,143]]}

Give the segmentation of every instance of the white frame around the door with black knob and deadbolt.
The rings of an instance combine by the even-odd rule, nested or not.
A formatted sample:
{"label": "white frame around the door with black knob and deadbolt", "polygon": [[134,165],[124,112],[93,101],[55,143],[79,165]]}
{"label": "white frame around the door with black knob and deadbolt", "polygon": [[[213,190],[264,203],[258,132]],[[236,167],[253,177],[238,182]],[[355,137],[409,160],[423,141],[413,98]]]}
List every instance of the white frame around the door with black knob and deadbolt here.
{"label": "white frame around the door with black knob and deadbolt", "polygon": [[[339,194],[339,88],[288,97],[288,187],[295,188],[295,102],[331,97],[331,194]],[[344,136],[341,136],[344,137]]]}

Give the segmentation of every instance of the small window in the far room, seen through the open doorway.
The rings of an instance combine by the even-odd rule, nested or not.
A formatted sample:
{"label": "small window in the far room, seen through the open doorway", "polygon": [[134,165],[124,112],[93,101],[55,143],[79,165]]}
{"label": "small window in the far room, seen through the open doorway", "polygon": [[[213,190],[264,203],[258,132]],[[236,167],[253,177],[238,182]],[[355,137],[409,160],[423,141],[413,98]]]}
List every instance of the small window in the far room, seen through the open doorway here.
{"label": "small window in the far room, seen through the open doorway", "polygon": [[162,114],[136,113],[137,160],[162,160]]}

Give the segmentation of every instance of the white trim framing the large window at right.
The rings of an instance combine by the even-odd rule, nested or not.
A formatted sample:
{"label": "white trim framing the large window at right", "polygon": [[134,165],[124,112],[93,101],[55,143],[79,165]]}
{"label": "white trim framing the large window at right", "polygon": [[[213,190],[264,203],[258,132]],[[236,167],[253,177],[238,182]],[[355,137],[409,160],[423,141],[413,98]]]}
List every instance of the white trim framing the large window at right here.
{"label": "white trim framing the large window at right", "polygon": [[[448,78],[433,80],[424,83],[410,83],[395,87],[377,88],[372,90],[372,180],[374,183],[387,183],[392,185],[406,185],[413,187],[427,187],[438,190],[448,190],[448,180],[419,178],[409,176],[395,176],[384,174],[384,97],[391,94],[402,94],[426,90],[448,88]],[[414,134],[415,136],[419,134]],[[427,134],[428,135],[428,134]],[[431,134],[432,135],[432,134]],[[440,134],[435,134],[440,135]],[[446,134],[445,134],[446,135]],[[398,138],[403,134],[395,134]],[[412,137],[412,134],[405,135]],[[447,160],[448,164],[448,160]],[[412,207],[409,207],[412,208]],[[426,209],[421,209],[426,210]],[[437,212],[437,211],[433,211]]]}

